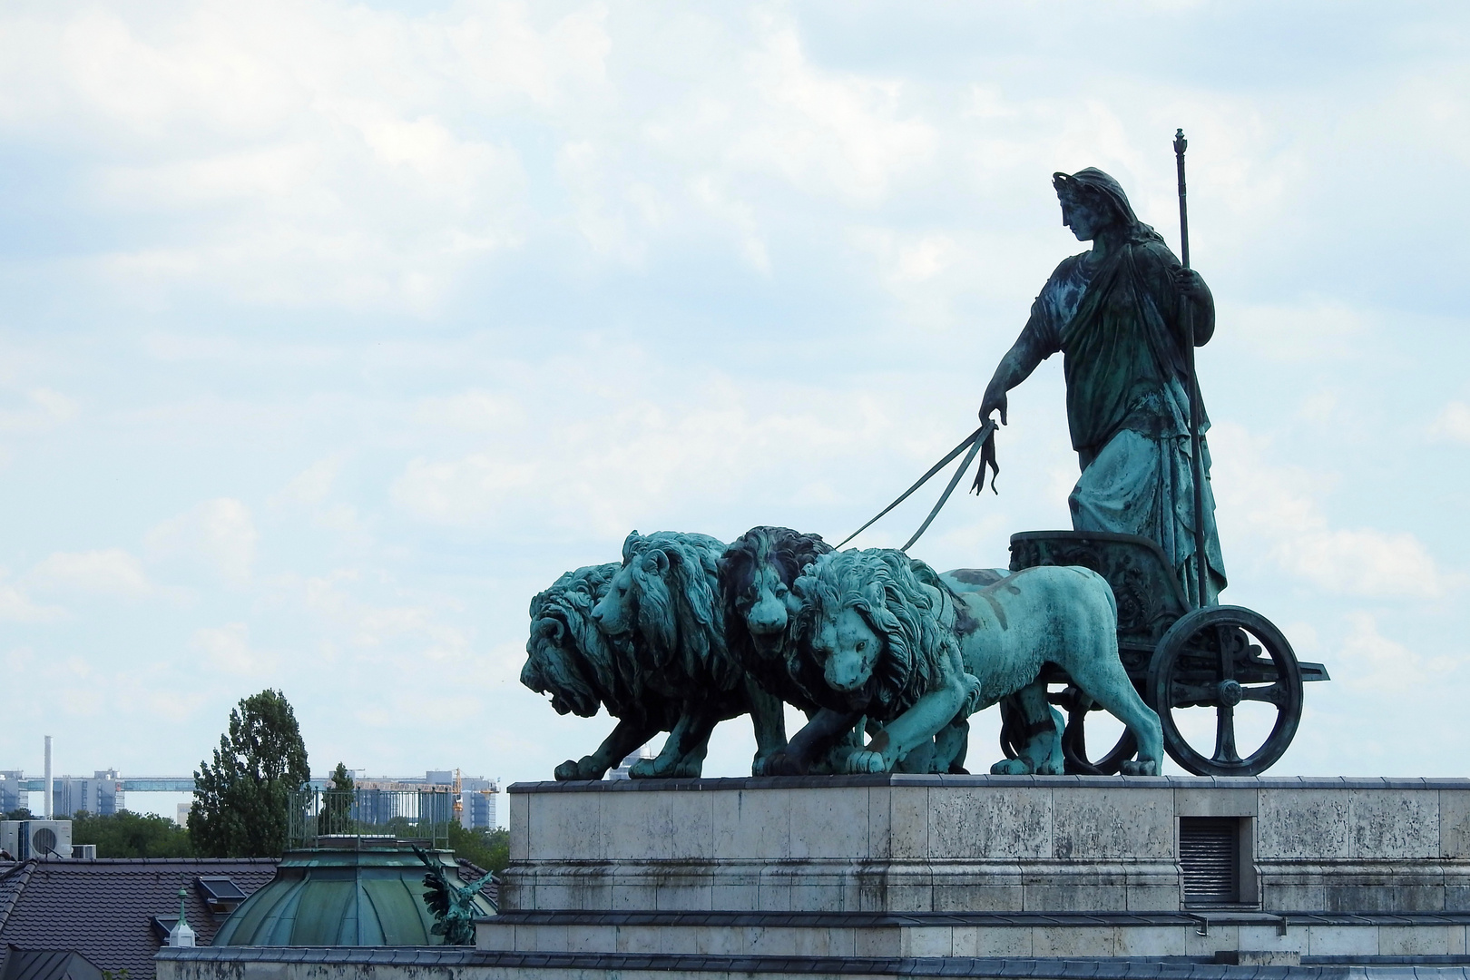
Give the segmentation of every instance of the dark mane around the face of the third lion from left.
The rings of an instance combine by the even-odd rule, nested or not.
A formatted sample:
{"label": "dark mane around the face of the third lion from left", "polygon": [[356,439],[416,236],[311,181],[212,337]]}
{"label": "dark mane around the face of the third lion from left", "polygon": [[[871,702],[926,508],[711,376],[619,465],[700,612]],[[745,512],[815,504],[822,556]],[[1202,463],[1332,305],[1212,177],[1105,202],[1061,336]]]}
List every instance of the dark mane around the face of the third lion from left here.
{"label": "dark mane around the face of the third lion from left", "polygon": [[[775,566],[786,588],[794,588],[803,570],[817,558],[832,551],[832,545],[820,535],[804,535],[789,527],[759,526],[731,542],[719,560],[720,595],[725,601],[725,639],[731,655],[756,679],[761,689],[782,701],[801,708],[814,710],[816,701],[808,689],[810,677],[792,676],[810,657],[797,657],[801,645],[800,620],[786,623],[781,655],[763,657],[756,649],[745,617],[736,608],[756,582],[756,570],[761,564]],[[807,671],[810,673],[810,671]]]}

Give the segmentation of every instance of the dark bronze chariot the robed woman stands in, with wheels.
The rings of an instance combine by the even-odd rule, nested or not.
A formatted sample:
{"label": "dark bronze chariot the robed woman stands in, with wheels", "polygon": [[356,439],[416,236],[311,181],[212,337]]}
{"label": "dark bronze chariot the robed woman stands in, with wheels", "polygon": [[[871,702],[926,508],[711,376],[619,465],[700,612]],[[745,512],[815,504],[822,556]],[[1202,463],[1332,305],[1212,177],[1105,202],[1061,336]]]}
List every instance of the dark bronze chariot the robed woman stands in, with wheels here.
{"label": "dark bronze chariot the robed woman stands in, with wheels", "polygon": [[[1036,566],[1082,566],[1107,579],[1117,599],[1119,657],[1129,679],[1157,714],[1170,758],[1197,776],[1255,776],[1282,757],[1301,721],[1302,683],[1329,680],[1322,664],[1297,660],[1291,644],[1264,616],[1239,605],[1192,604],[1179,576],[1148,538],[1086,530],[1030,530],[1011,535],[1011,572]],[[1113,774],[1138,745],[1126,730],[1098,758],[1089,755],[1086,718],[1091,698],[1048,664],[1047,699],[1067,714],[1061,736],[1066,771]],[[1255,702],[1276,718],[1260,748],[1236,748],[1236,707]],[[1214,710],[1214,748],[1189,743],[1198,724],[1188,714]],[[1186,714],[1188,713],[1188,714]],[[1269,717],[1269,713],[1266,713]],[[1001,705],[1001,748],[1016,757],[1025,721]]]}

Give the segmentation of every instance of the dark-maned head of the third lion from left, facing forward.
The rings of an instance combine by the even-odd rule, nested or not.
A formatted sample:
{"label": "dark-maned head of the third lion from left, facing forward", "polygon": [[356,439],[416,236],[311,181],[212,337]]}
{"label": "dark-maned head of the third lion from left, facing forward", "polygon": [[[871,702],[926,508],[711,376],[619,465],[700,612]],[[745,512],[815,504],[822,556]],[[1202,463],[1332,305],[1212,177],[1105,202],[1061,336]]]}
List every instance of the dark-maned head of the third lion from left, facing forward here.
{"label": "dark-maned head of the third lion from left, facing forward", "polygon": [[791,591],[801,570],[832,551],[819,535],[789,527],[751,527],[720,555],[720,595],[732,646],[750,638],[761,657],[779,652],[786,627],[801,610]]}

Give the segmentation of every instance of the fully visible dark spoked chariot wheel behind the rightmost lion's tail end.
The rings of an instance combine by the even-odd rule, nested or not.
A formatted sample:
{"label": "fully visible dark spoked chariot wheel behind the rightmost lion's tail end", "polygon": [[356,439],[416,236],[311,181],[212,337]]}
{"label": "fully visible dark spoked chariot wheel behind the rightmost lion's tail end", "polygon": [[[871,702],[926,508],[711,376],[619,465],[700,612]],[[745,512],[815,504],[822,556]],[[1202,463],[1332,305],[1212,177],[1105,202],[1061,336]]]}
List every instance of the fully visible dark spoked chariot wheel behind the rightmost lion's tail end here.
{"label": "fully visible dark spoked chariot wheel behind the rightmost lion's tail end", "polygon": [[[1301,721],[1301,666],[1282,632],[1260,613],[1239,605],[1197,608],[1169,627],[1148,664],[1145,701],[1158,713],[1164,749],[1195,776],[1255,776],[1291,745]],[[1241,755],[1235,708],[1241,702],[1276,711],[1260,748]],[[1200,711],[1214,713],[1214,748],[1197,751],[1185,727]]]}

